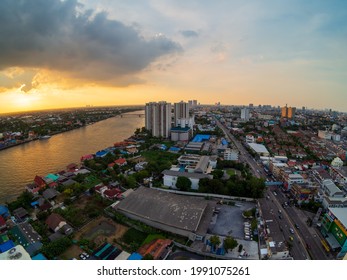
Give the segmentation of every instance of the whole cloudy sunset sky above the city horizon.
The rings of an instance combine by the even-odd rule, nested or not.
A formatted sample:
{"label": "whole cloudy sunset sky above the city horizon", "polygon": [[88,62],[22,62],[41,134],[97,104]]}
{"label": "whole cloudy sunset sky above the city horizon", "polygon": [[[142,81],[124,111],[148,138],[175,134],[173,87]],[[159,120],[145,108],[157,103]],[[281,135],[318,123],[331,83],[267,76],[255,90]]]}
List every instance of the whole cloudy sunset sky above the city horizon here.
{"label": "whole cloudy sunset sky above the city horizon", "polygon": [[345,0],[2,0],[0,113],[253,103],[347,112]]}

